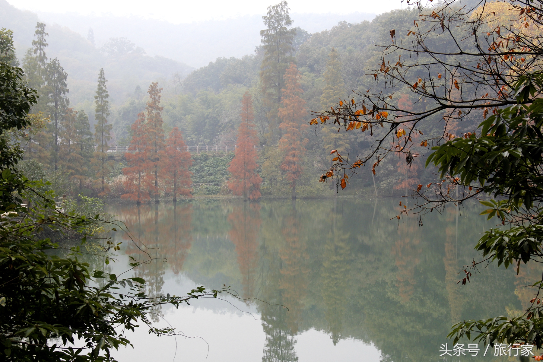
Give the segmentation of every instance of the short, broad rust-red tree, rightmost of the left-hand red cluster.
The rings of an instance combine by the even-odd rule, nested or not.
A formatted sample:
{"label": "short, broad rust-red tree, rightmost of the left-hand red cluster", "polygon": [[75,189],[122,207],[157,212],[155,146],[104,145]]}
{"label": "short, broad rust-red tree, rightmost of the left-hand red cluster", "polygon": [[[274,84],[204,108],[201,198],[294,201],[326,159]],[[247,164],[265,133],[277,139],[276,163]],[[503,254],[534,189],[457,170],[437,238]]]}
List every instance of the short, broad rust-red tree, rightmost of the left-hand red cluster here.
{"label": "short, broad rust-red tree, rightmost of the left-hand red cluster", "polygon": [[173,200],[177,201],[178,194],[190,198],[192,196],[192,172],[188,168],[192,165],[192,158],[191,154],[186,150],[187,145],[183,141],[183,136],[179,128],[173,128],[166,142],[164,170],[173,193]]}

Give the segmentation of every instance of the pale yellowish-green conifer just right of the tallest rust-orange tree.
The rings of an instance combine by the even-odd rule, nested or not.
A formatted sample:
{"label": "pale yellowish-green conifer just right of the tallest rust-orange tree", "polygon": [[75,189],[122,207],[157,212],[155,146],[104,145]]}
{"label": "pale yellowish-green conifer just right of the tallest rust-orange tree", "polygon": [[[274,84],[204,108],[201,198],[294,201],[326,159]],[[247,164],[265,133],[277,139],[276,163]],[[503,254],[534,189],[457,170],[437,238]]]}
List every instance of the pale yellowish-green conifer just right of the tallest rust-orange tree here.
{"label": "pale yellowish-green conifer just right of the tallest rust-orange tree", "polygon": [[[345,97],[345,84],[341,75],[341,62],[339,61],[338,52],[334,48],[332,48],[329,60],[326,63],[324,81],[326,86],[323,89],[323,95],[320,97],[320,104],[323,110],[329,110],[330,107],[339,103],[340,98],[343,99]],[[323,146],[327,155],[336,149],[341,155],[348,153],[349,139],[346,133],[336,132],[331,127],[324,127],[322,131]]]}

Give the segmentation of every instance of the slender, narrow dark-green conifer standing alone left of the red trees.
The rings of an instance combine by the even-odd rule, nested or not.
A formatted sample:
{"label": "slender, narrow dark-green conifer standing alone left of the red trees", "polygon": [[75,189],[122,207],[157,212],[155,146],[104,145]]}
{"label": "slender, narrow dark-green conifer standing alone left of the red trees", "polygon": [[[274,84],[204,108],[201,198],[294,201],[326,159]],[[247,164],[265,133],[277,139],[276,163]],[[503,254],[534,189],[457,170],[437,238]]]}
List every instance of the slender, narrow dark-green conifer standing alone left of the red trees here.
{"label": "slender, narrow dark-green conifer standing alone left of the red trees", "polygon": [[96,96],[94,96],[94,119],[96,119],[96,124],[94,125],[94,141],[97,144],[96,151],[94,152],[94,157],[92,159],[92,168],[96,173],[95,185],[100,187],[101,192],[99,196],[104,196],[109,192],[109,186],[105,182],[106,178],[110,174],[111,164],[108,162],[108,141],[111,139],[110,130],[111,124],[108,123],[109,116],[109,93],[108,88],[106,87],[104,68],[100,69],[98,75],[98,86],[96,88]]}

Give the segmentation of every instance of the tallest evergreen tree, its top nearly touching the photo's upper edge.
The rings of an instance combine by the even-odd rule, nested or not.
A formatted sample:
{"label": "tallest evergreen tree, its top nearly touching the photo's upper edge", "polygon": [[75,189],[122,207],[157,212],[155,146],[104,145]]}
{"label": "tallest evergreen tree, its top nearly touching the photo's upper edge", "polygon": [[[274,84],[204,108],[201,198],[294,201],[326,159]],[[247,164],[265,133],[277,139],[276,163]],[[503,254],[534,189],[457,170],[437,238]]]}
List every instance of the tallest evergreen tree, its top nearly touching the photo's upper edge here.
{"label": "tallest evergreen tree, its top nearly touching the photo's upper edge", "polygon": [[283,0],[279,4],[268,7],[268,14],[263,16],[267,29],[260,31],[264,48],[264,59],[260,71],[260,82],[264,94],[263,103],[268,113],[268,144],[274,144],[279,138],[277,129],[277,109],[281,104],[281,90],[285,85],[283,75],[289,63],[294,62],[294,47],[292,43],[296,30],[292,26],[288,15],[288,3]]}

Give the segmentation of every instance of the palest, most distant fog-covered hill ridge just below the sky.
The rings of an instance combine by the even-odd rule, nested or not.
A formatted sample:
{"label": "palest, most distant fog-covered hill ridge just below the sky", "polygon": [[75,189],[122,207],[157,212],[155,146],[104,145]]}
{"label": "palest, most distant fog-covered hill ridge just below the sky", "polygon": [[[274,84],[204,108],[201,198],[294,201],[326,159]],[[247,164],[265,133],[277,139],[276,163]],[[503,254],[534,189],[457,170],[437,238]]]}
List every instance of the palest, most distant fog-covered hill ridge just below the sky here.
{"label": "palest, most distant fog-covered hill ridge just below the sky", "polygon": [[[154,19],[118,16],[81,16],[39,12],[46,23],[67,26],[87,36],[94,32],[95,44],[102,46],[110,37],[127,37],[149,55],[161,55],[201,67],[220,56],[241,58],[260,45],[261,15],[242,16],[220,21],[172,24]],[[340,21],[359,23],[375,14],[291,14],[293,26],[310,33],[330,29]]]}

